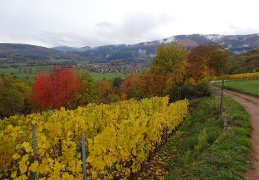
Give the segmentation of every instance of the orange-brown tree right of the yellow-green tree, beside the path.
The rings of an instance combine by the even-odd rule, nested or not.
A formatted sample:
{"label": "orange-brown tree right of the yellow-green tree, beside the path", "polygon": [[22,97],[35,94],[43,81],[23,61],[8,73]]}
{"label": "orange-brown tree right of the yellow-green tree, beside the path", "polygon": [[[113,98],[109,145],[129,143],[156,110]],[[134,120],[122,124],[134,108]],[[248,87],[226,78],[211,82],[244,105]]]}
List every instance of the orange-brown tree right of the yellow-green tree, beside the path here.
{"label": "orange-brown tree right of the yellow-green tree, beside the path", "polygon": [[202,44],[193,48],[188,56],[188,75],[184,91],[191,97],[209,95],[209,80],[213,75],[222,75],[227,70],[229,53],[215,44]]}

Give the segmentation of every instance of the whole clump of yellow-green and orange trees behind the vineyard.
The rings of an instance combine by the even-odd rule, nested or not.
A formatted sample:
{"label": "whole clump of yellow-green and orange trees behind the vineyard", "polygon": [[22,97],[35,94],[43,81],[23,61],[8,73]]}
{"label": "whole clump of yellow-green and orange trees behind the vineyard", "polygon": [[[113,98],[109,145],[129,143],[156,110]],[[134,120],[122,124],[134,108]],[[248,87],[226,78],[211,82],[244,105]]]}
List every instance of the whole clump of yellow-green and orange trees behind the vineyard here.
{"label": "whole clump of yellow-green and orange trees behind the vineyard", "polygon": [[171,100],[209,94],[209,79],[226,71],[227,51],[218,44],[204,44],[186,51],[176,44],[157,47],[151,71],[146,72],[146,91],[152,96],[169,94]]}

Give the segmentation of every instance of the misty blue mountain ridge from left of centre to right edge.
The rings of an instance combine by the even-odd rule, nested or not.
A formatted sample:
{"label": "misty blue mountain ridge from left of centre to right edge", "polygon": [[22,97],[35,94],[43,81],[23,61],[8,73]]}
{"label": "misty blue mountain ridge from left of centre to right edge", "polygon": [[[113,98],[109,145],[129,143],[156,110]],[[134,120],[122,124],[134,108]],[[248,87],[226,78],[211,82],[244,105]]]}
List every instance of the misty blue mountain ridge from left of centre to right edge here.
{"label": "misty blue mountain ridge from left of centre to right edge", "polygon": [[259,35],[177,35],[153,42],[142,42],[139,44],[119,44],[98,47],[71,48],[68,46],[59,46],[55,49],[66,52],[73,52],[90,60],[102,60],[111,62],[111,60],[138,60],[151,59],[155,55],[156,46],[162,42],[175,42],[182,44],[185,48],[194,48],[200,44],[216,42],[227,48],[233,54],[245,53],[259,48]]}

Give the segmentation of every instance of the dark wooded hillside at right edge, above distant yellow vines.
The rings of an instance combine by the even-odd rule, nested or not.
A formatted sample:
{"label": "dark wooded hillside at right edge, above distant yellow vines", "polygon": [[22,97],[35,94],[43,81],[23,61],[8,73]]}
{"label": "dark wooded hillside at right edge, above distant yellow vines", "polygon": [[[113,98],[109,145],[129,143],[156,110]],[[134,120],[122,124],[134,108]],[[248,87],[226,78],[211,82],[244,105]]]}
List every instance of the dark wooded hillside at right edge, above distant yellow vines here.
{"label": "dark wooded hillside at right edge, above distant yellow vines", "polygon": [[233,55],[229,61],[229,73],[259,72],[259,49]]}

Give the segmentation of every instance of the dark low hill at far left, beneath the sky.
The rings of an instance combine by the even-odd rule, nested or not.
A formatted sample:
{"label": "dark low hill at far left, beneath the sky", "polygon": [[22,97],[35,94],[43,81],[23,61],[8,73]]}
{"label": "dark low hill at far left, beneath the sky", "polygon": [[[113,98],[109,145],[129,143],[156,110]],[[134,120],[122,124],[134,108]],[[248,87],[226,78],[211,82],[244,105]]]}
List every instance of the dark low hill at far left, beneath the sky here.
{"label": "dark low hill at far left, beneath the sky", "polygon": [[0,58],[11,58],[19,62],[19,60],[49,60],[50,58],[80,60],[84,57],[72,52],[58,51],[53,48],[44,48],[29,44],[0,43]]}

